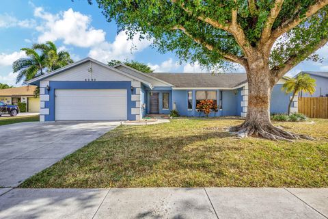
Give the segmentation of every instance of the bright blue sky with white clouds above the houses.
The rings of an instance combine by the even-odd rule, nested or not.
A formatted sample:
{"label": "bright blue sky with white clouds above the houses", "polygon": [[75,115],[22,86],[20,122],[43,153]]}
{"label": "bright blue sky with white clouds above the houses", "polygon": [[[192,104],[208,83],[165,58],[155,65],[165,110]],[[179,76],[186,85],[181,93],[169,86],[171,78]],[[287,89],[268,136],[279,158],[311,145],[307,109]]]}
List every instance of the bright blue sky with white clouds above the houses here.
{"label": "bright blue sky with white clouds above the houses", "polygon": [[[126,40],[124,32],[117,33],[115,22],[108,23],[97,5],[89,5],[86,0],[3,1],[0,36],[0,83],[10,85],[15,85],[16,81],[12,62],[24,57],[20,49],[47,40],[69,51],[75,61],[87,56],[101,62],[128,59],[144,62],[156,72],[206,72],[197,64],[179,65],[174,53],[161,54],[150,48],[148,40]],[[132,53],[131,47],[136,47]],[[328,71],[328,47],[318,53],[323,63],[302,62],[288,75],[301,70]],[[237,67],[236,71],[244,70]]]}

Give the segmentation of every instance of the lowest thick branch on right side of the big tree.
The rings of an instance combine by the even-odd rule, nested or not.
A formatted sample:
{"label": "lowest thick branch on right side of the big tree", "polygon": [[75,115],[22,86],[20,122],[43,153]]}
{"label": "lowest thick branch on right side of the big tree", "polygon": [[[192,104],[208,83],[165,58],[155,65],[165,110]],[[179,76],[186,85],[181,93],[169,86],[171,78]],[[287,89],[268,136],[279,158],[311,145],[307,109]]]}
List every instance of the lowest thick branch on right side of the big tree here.
{"label": "lowest thick branch on right side of the big tree", "polygon": [[[302,54],[303,57],[309,57],[312,53],[320,49],[321,47],[325,46],[325,44],[328,42],[328,38],[325,38],[323,40],[320,40],[320,42],[316,45],[316,47],[313,47],[309,51]],[[271,74],[275,79],[279,80],[282,76],[284,76],[288,70],[294,68],[299,64],[299,62],[303,61],[303,59],[300,59],[299,55],[293,55],[292,57],[289,57],[288,60],[283,64],[281,68],[273,68],[271,69]]]}

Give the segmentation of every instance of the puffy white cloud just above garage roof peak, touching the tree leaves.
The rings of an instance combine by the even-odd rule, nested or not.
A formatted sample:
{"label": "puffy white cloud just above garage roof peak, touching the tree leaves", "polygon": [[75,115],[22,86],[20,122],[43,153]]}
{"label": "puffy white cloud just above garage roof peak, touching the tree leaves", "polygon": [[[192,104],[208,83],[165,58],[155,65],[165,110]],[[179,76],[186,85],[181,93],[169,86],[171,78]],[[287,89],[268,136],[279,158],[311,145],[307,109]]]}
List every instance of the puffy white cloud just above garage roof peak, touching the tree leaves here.
{"label": "puffy white cloud just above garage roof peak, touching the tree leaves", "polygon": [[121,31],[113,42],[104,41],[93,47],[89,52],[89,56],[100,62],[131,60],[134,57],[133,51],[142,51],[150,44],[150,40],[139,40],[139,34],[136,34],[133,40],[129,40],[126,33]]}

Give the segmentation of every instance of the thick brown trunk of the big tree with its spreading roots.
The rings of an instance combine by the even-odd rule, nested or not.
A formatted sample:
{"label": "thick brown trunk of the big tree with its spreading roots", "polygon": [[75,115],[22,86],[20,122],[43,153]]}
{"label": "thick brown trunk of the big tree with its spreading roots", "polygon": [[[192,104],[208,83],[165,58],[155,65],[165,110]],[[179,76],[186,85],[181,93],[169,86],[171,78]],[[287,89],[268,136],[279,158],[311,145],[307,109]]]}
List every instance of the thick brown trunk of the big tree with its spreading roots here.
{"label": "thick brown trunk of the big tree with its spreading roots", "polygon": [[274,127],[270,119],[270,99],[273,86],[277,79],[271,76],[269,64],[264,60],[256,59],[247,69],[248,106],[245,122],[230,131],[239,137],[261,136],[271,140],[295,140],[309,136],[298,135]]}

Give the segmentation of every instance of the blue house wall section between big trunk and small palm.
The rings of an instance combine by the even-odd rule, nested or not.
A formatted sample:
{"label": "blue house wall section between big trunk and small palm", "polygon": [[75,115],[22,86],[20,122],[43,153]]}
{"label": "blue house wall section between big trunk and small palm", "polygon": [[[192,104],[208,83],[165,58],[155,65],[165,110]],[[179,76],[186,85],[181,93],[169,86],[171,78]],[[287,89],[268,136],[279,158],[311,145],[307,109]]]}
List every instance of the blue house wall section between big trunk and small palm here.
{"label": "blue house wall section between big trunk and small palm", "polygon": [[286,114],[288,112],[290,96],[290,94],[286,94],[286,92],[282,90],[282,84],[275,85],[271,93],[270,113]]}

